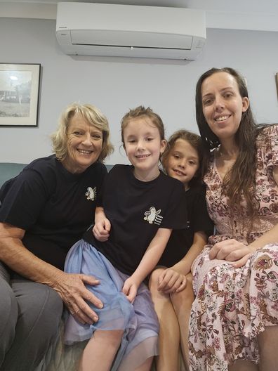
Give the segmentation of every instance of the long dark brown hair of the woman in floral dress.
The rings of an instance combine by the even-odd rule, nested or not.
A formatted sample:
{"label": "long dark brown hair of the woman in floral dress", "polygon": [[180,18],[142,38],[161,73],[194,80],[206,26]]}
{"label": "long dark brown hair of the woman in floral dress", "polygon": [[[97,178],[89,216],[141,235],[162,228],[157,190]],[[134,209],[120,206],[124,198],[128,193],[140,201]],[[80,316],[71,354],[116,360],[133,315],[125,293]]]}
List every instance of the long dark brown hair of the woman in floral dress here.
{"label": "long dark brown hair of the woman in floral dress", "polygon": [[[196,86],[196,119],[201,134],[201,139],[204,143],[204,167],[203,175],[206,174],[208,169],[209,159],[211,157],[211,150],[218,148],[220,141],[218,136],[211,131],[209,125],[206,122],[203,113],[202,99],[201,99],[201,85],[204,80],[210,77],[212,74],[218,72],[227,72],[234,77],[239,87],[239,93],[241,98],[248,98],[248,91],[244,78],[241,77],[239,72],[233,70],[230,67],[224,68],[211,68],[211,70],[204,72],[204,74],[199,77]],[[245,112],[242,112],[241,122],[239,124],[239,129],[235,135],[235,142],[239,148],[239,155],[234,165],[226,174],[223,180],[223,189],[225,195],[229,197],[230,208],[232,210],[232,215],[237,212],[237,207],[240,205],[241,197],[243,195],[246,200],[247,213],[249,214],[251,224],[249,226],[249,233],[252,228],[252,224],[256,215],[258,214],[258,201],[255,197],[256,191],[256,168],[257,168],[257,156],[256,156],[256,137],[258,133],[266,125],[256,125],[251,107]],[[249,234],[248,233],[248,234]],[[248,238],[248,236],[247,236]]]}

